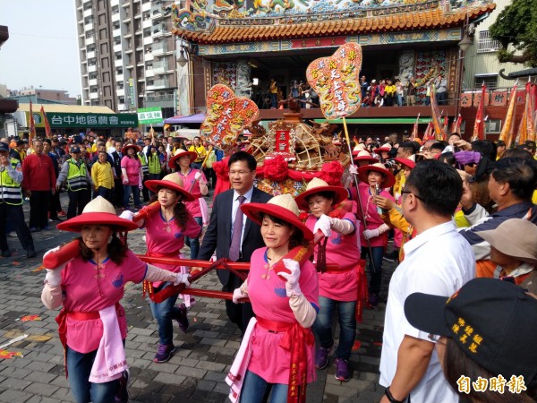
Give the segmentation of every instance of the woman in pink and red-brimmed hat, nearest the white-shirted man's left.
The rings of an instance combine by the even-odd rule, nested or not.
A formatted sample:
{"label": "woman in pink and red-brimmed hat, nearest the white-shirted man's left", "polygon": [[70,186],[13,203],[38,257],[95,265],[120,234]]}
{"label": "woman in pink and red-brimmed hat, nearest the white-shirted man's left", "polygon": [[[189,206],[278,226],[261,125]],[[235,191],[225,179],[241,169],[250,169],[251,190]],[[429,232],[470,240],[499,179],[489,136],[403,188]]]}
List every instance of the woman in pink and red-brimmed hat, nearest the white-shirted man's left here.
{"label": "woman in pink and red-brimmed hat, nearest the white-shirted man's left", "polygon": [[[352,199],[361,201],[362,206],[358,207],[358,218],[365,221],[366,228],[360,235],[362,244],[362,259],[370,253],[370,287],[369,302],[372,307],[379,304],[380,285],[382,283],[382,257],[388,246],[388,225],[380,217],[382,210],[374,203],[374,196],[383,196],[393,201],[394,198],[386,191],[386,188],[396,183],[395,176],[388,171],[384,164],[376,163],[358,168],[358,190],[360,198],[356,193],[356,187],[351,190]],[[362,219],[362,212],[365,215]],[[371,248],[369,247],[371,246]]]}

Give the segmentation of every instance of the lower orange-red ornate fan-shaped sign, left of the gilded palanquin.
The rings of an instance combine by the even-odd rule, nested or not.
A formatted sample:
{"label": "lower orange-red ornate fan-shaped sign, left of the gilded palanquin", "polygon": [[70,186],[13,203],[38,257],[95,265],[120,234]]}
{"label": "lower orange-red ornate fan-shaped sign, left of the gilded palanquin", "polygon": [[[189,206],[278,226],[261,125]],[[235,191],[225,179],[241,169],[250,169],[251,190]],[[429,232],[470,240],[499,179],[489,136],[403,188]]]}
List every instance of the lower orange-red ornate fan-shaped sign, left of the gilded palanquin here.
{"label": "lower orange-red ornate fan-shaped sign, left of the gilded palanquin", "polygon": [[233,145],[244,127],[259,116],[259,108],[251,99],[235,97],[234,91],[223,84],[213,86],[207,94],[207,115],[200,133],[220,147]]}

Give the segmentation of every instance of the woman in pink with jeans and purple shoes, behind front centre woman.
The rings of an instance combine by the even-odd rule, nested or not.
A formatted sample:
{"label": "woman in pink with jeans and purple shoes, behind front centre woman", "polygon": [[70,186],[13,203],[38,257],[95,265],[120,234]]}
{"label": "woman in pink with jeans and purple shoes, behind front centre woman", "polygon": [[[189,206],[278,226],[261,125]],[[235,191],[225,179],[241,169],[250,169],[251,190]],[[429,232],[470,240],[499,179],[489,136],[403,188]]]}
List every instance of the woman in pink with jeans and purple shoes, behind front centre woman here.
{"label": "woman in pink with jeans and purple shoes, behind front centre woman", "polygon": [[[317,259],[319,273],[319,308],[313,330],[319,340],[315,354],[315,366],[324,369],[328,365],[330,349],[334,345],[332,323],[334,312],[339,313],[339,345],[336,350],[336,374],[338,381],[350,379],[349,358],[356,335],[356,300],[358,298],[358,261],[360,238],[356,231],[356,218],[350,211],[334,210],[348,193],[340,186],[328,186],[318,178],[308,184],[306,191],[295,200],[302,210],[311,211],[306,227],[315,234],[320,230],[328,237],[326,263],[337,263],[337,270],[325,270]],[[350,203],[350,201],[349,201]],[[319,256],[320,246],[315,246]]]}

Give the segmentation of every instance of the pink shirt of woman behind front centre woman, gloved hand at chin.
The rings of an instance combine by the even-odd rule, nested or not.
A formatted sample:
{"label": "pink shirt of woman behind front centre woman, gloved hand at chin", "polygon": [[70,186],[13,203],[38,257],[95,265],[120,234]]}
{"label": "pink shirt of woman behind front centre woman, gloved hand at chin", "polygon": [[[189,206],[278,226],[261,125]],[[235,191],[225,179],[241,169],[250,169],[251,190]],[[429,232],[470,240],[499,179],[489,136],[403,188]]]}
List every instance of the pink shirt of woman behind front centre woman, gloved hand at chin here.
{"label": "pink shirt of woman behind front centre woman, gloved hand at chin", "polygon": [[[343,219],[348,219],[356,227],[353,213],[346,213]],[[310,214],[306,220],[306,227],[313,230],[317,218]],[[332,230],[327,242],[327,263],[336,263],[341,269],[354,268],[360,259],[360,249],[356,231],[349,235],[341,235]],[[315,256],[319,246],[315,246]],[[358,275],[356,270],[347,270],[342,273],[318,273],[319,295],[336,301],[355,301],[358,295]]]}

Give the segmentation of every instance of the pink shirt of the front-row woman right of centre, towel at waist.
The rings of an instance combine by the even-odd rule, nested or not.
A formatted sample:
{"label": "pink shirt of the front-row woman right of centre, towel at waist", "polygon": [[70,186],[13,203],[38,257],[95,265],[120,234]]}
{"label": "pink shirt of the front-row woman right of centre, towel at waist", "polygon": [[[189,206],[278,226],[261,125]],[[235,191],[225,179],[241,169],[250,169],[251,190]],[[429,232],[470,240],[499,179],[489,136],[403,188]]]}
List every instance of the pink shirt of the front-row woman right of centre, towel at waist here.
{"label": "pink shirt of the front-row woman right of centre, towel at waist", "polygon": [[[251,254],[250,272],[248,274],[248,296],[253,312],[268,321],[295,323],[294,313],[289,306],[286,284],[277,277],[273,270],[268,270],[267,248],[263,247]],[[261,276],[267,273],[267,279]],[[301,266],[300,288],[308,301],[319,306],[319,289],[317,271],[311,262]],[[289,383],[289,364],[291,355],[279,346],[284,332],[272,333],[256,326],[252,331],[251,360],[248,369],[271,383]],[[314,347],[307,348],[308,373],[307,382],[315,381],[313,363]]]}

